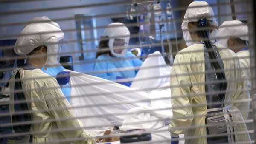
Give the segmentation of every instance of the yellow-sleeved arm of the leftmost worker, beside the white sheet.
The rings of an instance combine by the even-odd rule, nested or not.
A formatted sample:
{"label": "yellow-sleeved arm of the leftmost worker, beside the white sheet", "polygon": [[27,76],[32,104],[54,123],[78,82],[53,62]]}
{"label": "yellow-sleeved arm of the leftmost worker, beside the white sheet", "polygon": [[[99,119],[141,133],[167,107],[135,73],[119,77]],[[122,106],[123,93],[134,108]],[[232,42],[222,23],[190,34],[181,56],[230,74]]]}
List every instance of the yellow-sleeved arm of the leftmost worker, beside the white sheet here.
{"label": "yellow-sleeved arm of the leftmost worker, beside the white sheet", "polygon": [[[47,106],[49,108],[49,114],[56,119],[56,124],[60,133],[67,139],[81,138],[82,140],[76,141],[72,140],[73,144],[93,144],[94,140],[85,133],[84,126],[76,119],[71,105],[65,99],[65,96],[61,92],[61,88],[55,79],[49,79],[47,82],[51,86],[48,90],[44,90],[44,98],[46,100]],[[45,84],[47,87],[48,85]],[[54,99],[53,99],[54,98]],[[67,109],[69,108],[69,109]],[[67,120],[58,120],[67,119]],[[68,130],[73,129],[73,130]]]}

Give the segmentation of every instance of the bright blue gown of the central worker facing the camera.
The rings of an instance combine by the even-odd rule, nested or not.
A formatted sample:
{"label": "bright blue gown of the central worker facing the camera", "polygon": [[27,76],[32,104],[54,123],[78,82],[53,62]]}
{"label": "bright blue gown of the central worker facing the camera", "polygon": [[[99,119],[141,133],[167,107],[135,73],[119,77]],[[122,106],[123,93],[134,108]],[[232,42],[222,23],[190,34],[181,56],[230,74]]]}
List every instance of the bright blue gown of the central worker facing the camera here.
{"label": "bright blue gown of the central worker facing the camera", "polygon": [[[120,58],[120,60],[118,60]],[[125,58],[125,59],[123,59]],[[105,73],[95,73],[94,76],[101,77],[108,80],[116,80],[116,77],[134,78],[138,70],[130,71],[115,71],[118,68],[132,68],[142,65],[142,61],[134,56],[130,51],[124,57],[111,57],[103,54],[96,59],[94,71],[113,71]]]}

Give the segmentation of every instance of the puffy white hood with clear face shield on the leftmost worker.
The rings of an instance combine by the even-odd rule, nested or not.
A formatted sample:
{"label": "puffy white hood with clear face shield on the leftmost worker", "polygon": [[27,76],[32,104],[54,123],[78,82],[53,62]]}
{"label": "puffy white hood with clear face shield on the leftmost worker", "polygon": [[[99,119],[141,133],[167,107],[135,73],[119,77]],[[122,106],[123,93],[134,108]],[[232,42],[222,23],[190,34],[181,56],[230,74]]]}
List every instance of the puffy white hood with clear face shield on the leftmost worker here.
{"label": "puffy white hood with clear face shield on the leftmost worker", "polygon": [[40,45],[47,46],[45,66],[59,65],[59,56],[64,33],[55,22],[38,22],[50,20],[48,17],[35,17],[20,32],[14,51],[18,55],[27,55]]}

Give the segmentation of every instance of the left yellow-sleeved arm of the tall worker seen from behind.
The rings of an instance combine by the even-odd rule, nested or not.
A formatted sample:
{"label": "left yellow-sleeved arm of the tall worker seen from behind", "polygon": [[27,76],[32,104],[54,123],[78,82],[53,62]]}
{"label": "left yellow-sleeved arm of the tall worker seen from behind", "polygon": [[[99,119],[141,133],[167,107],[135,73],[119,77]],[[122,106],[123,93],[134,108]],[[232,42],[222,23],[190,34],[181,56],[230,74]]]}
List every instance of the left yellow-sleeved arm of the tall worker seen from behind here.
{"label": "left yellow-sleeved arm of the tall worker seen from behind", "polygon": [[[186,65],[180,64],[181,62],[185,62],[184,56],[177,54],[170,77],[173,116],[171,117],[168,129],[173,137],[178,137],[179,134],[185,133],[187,128],[191,126],[193,119],[192,107],[187,97],[191,94],[191,82]],[[184,128],[182,129],[181,127]]]}

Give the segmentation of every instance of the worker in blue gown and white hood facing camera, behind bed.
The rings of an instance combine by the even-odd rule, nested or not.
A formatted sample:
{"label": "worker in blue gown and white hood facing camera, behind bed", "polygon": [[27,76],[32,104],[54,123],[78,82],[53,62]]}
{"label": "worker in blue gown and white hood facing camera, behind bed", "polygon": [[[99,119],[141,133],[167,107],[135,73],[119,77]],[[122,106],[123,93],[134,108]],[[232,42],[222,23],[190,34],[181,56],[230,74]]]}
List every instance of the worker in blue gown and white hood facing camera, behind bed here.
{"label": "worker in blue gown and white hood facing camera, behind bed", "polygon": [[[130,39],[128,28],[123,23],[111,23],[104,31],[104,37],[107,39],[106,45],[99,46],[94,65],[94,71],[101,73],[96,73],[95,76],[113,81],[134,78],[138,72],[138,68],[135,67],[140,67],[143,62],[127,51]],[[106,50],[108,48],[109,50]],[[122,68],[130,68],[130,70],[122,70]]]}

